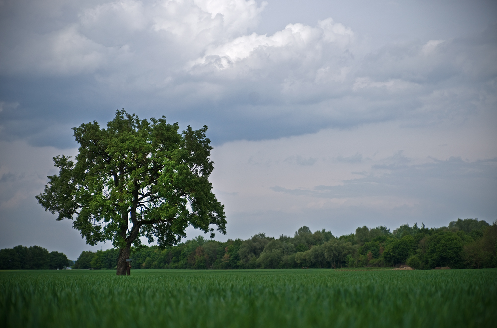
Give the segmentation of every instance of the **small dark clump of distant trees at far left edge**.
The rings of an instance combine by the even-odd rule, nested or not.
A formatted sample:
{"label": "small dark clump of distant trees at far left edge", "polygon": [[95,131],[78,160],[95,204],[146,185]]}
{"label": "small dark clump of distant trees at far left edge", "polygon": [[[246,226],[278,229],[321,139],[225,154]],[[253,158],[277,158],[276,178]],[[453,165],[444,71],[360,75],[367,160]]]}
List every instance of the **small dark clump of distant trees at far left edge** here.
{"label": "small dark clump of distant trees at far left edge", "polygon": [[73,262],[57,251],[48,252],[43,247],[22,245],[0,250],[0,270],[64,269]]}

